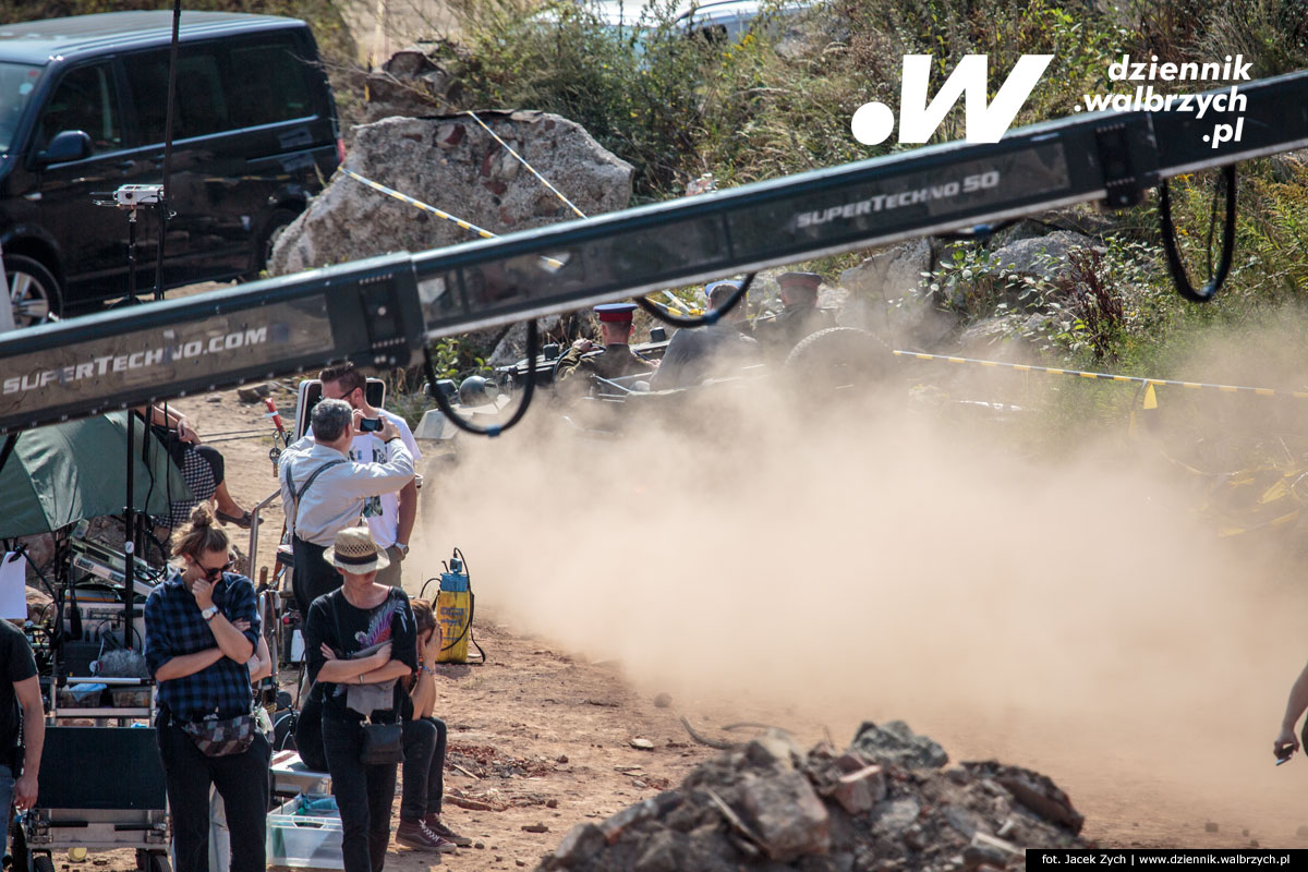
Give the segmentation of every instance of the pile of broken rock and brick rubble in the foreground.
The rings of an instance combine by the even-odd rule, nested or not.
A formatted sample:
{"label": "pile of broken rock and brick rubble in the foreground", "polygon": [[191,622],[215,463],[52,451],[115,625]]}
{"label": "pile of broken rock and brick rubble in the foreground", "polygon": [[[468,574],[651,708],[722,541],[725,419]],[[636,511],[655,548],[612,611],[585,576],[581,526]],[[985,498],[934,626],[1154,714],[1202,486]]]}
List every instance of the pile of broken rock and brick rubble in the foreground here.
{"label": "pile of broken rock and brick rubble in the foreground", "polygon": [[770,729],[681,783],[574,828],[538,872],[1022,868],[1028,847],[1084,847],[1082,816],[1044,775],[948,766],[903,722],[865,723],[844,752]]}

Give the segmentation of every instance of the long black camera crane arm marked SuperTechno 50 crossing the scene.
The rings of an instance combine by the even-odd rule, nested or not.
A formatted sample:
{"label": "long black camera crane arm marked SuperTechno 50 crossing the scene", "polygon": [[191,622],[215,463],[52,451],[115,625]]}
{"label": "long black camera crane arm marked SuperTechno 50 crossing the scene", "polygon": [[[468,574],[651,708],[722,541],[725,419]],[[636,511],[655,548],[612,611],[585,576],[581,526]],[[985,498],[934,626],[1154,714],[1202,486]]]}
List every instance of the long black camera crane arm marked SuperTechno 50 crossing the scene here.
{"label": "long black camera crane arm marked SuperTechno 50 crossing the scene", "polygon": [[[331,361],[405,366],[441,336],[1074,203],[1122,208],[1171,176],[1308,146],[1308,71],[1240,95],[1202,119],[1074,116],[8,333],[0,434]],[[1240,141],[1215,136],[1236,124]]]}

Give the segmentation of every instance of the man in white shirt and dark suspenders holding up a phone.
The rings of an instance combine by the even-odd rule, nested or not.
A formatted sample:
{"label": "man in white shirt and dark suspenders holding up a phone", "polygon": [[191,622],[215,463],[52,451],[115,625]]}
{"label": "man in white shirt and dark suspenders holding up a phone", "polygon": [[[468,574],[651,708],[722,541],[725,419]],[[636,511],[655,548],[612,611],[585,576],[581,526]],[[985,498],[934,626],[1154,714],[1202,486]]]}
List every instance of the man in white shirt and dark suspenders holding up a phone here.
{"label": "man in white shirt and dark suspenders holding up a phone", "polygon": [[277,464],[296,557],[292,583],[302,614],[309,614],[314,599],[340,587],[340,574],[323,560],[336,533],[358,524],[368,498],[394,493],[413,480],[413,458],[390,421],[383,421],[377,434],[386,452],[383,461],[349,459],[362,418],[348,403],[320,400],[310,416],[313,438],[306,435],[288,447]]}

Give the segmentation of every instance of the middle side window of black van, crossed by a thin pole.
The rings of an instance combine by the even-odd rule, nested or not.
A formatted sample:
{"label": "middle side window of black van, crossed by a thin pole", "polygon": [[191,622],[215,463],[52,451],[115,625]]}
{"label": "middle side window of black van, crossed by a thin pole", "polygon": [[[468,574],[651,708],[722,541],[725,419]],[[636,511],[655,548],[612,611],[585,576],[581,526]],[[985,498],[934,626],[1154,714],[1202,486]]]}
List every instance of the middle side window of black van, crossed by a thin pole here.
{"label": "middle side window of black van, crossed by a thin pole", "polygon": [[[166,51],[132,55],[123,61],[127,82],[132,89],[140,145],[164,141],[167,120]],[[173,139],[217,133],[232,127],[228,120],[228,98],[213,47],[183,51],[177,60],[177,103],[173,107]]]}

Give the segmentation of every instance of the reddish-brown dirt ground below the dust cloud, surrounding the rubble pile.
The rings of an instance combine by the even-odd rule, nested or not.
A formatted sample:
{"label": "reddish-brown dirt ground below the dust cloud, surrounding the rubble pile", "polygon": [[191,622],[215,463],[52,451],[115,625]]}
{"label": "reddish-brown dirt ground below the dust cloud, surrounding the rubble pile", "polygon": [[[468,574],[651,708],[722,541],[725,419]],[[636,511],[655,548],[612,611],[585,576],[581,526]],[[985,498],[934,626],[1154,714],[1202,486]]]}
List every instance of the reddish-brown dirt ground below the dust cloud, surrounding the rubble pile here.
{"label": "reddish-brown dirt ground below the dust cloud, surrounding the rubble pile", "polygon": [[[273,394],[288,426],[294,408],[290,384],[285,382]],[[226,455],[229,488],[242,505],[249,507],[276,489],[267,458],[272,425],[262,403],[242,403],[233,391],[184,399],[177,405],[201,437],[262,429],[266,435],[216,444]],[[430,452],[420,469],[426,473],[422,512],[428,512],[432,493],[445,486],[447,473]],[[277,501],[264,516],[258,566],[271,562],[271,548],[281,527]],[[446,548],[443,541],[424,543],[428,529],[420,514],[413,543],[420,557],[411,558],[415,565],[404,567],[411,595],[420,591],[426,578],[439,573],[443,553],[432,554]],[[245,535],[234,532],[245,550]],[[723,693],[695,682],[661,685],[645,672],[629,675],[619,660],[593,662],[590,655],[569,650],[565,642],[519,630],[514,618],[508,617],[511,609],[505,609],[508,603],[498,599],[494,586],[479,587],[476,578],[473,582],[475,590],[483,591],[475,637],[487,650],[488,663],[442,668],[437,714],[450,726],[445,780],[450,799],[445,820],[473,838],[476,846],[443,856],[392,847],[387,868],[534,867],[576,824],[606,817],[675,786],[698,761],[717,753],[692,741],[679,723],[680,715],[708,735],[729,739],[748,737],[751,731],[726,733],[721,727],[752,722],[787,728],[806,743],[829,736],[844,745],[857,727],[858,719],[850,718],[848,705],[823,710],[786,705],[778,702],[777,694],[755,693],[747,686],[739,693]],[[619,612],[610,620],[623,622],[634,616]],[[818,659],[811,667],[815,671],[821,668],[820,648],[818,642]],[[659,707],[654,698],[664,690],[671,693],[671,705]],[[943,716],[939,706],[926,706],[918,714],[912,701],[888,709],[883,714],[880,705],[870,705],[862,716],[908,719],[918,731],[942,741],[955,760],[997,756],[1049,774],[1086,814],[1086,835],[1105,846],[1235,847],[1252,839],[1264,847],[1303,845],[1294,834],[1296,820],[1303,817],[1296,809],[1283,808],[1284,814],[1274,818],[1240,803],[1214,803],[1211,796],[1194,794],[1180,782],[1139,770],[1130,754],[1114,760],[1082,753],[1075,740],[1065,741],[1057,733],[1020,727],[1003,718],[972,718],[965,707]],[[1275,718],[1273,710],[1264,720],[1274,726]],[[1184,726],[1176,724],[1179,729]],[[634,748],[633,739],[649,740],[653,750]],[[1270,736],[1266,739],[1270,741]],[[1173,762],[1182,767],[1203,765],[1199,757]],[[1287,777],[1281,783],[1292,780],[1296,779]],[[480,808],[472,811],[456,804],[468,800]],[[396,800],[396,814],[398,811]],[[1216,831],[1207,828],[1210,822],[1218,825]]]}

